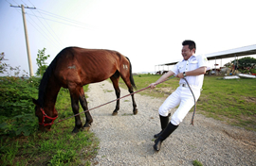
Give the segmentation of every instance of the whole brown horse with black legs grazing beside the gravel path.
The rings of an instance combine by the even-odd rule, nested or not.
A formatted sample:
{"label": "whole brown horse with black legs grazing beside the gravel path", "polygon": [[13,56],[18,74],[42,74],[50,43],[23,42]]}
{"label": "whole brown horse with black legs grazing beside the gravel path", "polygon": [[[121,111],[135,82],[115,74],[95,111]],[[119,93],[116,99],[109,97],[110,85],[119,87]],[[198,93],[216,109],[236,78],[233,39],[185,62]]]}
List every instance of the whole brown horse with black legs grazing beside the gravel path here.
{"label": "whole brown horse with black legs grazing beside the gravel path", "polygon": [[[53,121],[58,117],[55,109],[56,98],[61,87],[68,89],[71,97],[71,106],[74,114],[79,113],[79,102],[83,110],[87,110],[87,102],[82,89],[83,85],[101,82],[110,77],[120,96],[119,76],[123,79],[130,93],[135,86],[132,75],[132,65],[129,58],[125,58],[117,51],[84,49],[79,47],[64,48],[50,63],[43,75],[39,86],[38,100],[33,99],[36,105],[35,114],[39,120],[39,128],[48,131]],[[137,114],[137,105],[132,94],[133,112]],[[117,115],[119,100],[113,115]],[[80,115],[75,116],[75,128],[78,132],[83,127],[89,128],[93,122],[87,111],[84,113],[86,123],[82,126]]]}

